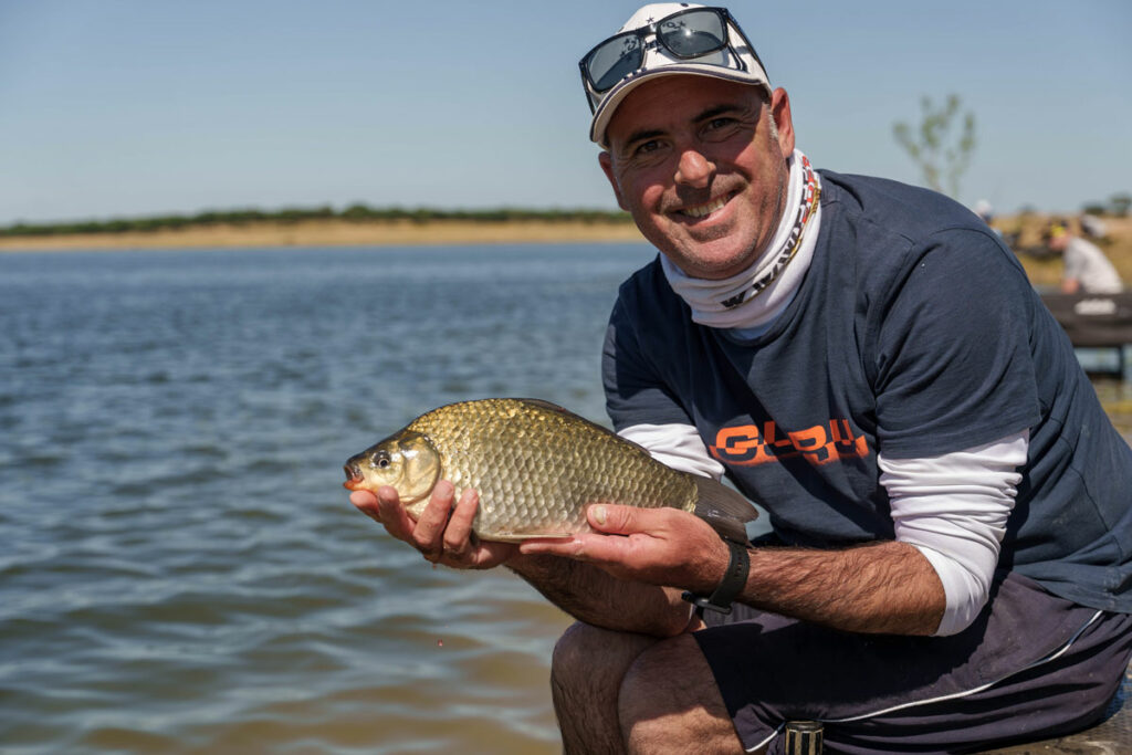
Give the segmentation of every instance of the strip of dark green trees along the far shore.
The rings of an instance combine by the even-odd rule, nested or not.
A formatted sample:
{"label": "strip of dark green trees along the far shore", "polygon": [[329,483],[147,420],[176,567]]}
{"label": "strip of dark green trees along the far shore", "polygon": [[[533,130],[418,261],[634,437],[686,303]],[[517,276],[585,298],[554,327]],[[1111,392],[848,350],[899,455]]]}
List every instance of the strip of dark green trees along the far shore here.
{"label": "strip of dark green trees along the far shore", "polygon": [[628,223],[628,213],[604,209],[523,209],[499,207],[496,209],[436,209],[431,207],[369,207],[353,204],[335,211],[321,207],[285,207],[275,212],[261,209],[209,209],[196,215],[155,215],[147,217],[111,218],[105,221],[65,221],[58,223],[15,223],[0,228],[0,238],[70,235],[76,233],[125,233],[130,231],[153,232],[182,230],[208,225],[250,225],[254,223],[299,223],[302,221],[343,220],[355,223],[371,222],[465,222],[465,223]]}

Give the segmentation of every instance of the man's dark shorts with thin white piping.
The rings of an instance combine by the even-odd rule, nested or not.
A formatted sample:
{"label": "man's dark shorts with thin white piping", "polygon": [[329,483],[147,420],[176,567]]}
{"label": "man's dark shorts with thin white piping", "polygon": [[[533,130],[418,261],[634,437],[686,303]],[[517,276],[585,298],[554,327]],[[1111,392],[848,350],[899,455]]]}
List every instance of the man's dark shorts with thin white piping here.
{"label": "man's dark shorts with thin white piping", "polygon": [[950,637],[829,629],[746,606],[693,636],[746,749],[782,753],[786,721],[824,722],[829,753],[963,753],[1099,720],[1132,654],[1132,616],[1000,573]]}

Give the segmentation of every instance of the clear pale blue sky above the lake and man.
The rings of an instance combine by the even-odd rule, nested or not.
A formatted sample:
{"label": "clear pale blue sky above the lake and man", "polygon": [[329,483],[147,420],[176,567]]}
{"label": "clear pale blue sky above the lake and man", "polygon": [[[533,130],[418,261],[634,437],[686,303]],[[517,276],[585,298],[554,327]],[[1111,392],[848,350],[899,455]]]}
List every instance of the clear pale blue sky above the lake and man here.
{"label": "clear pale blue sky above the lake and man", "polygon": [[[616,207],[577,59],[621,0],[0,0],[0,225],[204,209]],[[728,6],[817,168],[923,183],[893,123],[958,94],[957,197],[1132,191],[1127,0]]]}

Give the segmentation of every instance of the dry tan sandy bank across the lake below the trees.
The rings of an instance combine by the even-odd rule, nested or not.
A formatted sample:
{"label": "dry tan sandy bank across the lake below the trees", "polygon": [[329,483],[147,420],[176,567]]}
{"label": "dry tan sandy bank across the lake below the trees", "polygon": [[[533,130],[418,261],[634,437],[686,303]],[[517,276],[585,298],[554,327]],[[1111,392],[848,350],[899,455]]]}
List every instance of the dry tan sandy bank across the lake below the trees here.
{"label": "dry tan sandy bank across the lake below the trees", "polygon": [[225,249],[254,247],[389,247],[555,241],[644,241],[633,223],[581,221],[274,221],[160,231],[0,238],[6,251]]}

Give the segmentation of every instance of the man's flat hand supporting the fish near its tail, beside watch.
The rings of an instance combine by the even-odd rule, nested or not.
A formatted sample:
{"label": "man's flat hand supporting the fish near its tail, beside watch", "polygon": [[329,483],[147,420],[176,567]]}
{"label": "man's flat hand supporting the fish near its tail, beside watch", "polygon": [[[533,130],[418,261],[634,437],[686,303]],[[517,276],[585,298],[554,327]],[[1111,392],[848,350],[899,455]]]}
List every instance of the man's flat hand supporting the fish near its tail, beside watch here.
{"label": "man's flat hand supporting the fish near its tail, beside watch", "polygon": [[723,577],[730,551],[694,514],[675,508],[597,504],[586,509],[597,533],[568,540],[529,540],[524,555],[548,554],[588,561],[629,582],[711,592]]}

